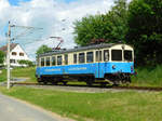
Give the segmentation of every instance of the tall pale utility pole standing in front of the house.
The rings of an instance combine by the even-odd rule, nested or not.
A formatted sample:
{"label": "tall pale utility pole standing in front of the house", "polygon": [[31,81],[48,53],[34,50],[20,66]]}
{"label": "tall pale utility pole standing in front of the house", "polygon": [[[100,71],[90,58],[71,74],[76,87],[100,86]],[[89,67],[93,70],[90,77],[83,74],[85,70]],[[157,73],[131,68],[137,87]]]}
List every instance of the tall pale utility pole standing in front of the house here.
{"label": "tall pale utility pole standing in front of the house", "polygon": [[11,41],[11,25],[9,22],[9,31],[8,31],[8,72],[6,72],[6,77],[8,77],[8,89],[10,89],[10,41]]}

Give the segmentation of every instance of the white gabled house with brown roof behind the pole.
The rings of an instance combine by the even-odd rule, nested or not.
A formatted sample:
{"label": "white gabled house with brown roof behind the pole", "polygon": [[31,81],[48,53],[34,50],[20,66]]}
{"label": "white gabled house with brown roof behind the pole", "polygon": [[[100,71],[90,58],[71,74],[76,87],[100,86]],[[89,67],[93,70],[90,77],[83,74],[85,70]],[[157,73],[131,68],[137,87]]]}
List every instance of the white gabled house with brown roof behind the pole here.
{"label": "white gabled house with brown roof behind the pole", "polygon": [[[1,46],[0,51],[3,51],[6,55],[8,45]],[[18,64],[18,60],[30,60],[26,52],[22,49],[18,43],[11,43],[10,45],[10,63],[12,67],[26,66]],[[4,59],[4,65],[6,65],[6,56]]]}

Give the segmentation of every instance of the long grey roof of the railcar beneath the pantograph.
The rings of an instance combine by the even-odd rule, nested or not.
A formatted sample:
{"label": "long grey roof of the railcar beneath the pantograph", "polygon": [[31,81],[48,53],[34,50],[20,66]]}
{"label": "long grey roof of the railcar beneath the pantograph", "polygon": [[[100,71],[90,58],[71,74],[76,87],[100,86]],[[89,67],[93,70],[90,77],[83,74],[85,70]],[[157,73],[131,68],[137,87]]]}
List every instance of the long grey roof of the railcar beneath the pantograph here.
{"label": "long grey roof of the railcar beneath the pantograph", "polygon": [[116,44],[117,43],[102,43],[102,44],[94,44],[94,45],[89,45],[89,46],[78,46],[77,49],[54,50],[44,54],[40,54],[39,56],[49,56],[49,55],[80,52],[80,51],[86,51],[86,50],[93,50],[93,49],[111,48],[112,45],[116,45]]}

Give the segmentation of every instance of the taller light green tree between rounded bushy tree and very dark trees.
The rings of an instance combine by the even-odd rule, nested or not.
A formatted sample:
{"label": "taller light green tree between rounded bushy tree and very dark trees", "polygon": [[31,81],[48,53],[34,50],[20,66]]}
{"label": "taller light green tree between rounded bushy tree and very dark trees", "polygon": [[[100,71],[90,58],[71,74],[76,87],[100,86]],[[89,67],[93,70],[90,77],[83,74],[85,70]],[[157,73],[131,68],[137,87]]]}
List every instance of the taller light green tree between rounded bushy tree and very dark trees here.
{"label": "taller light green tree between rounded bushy tree and very dark trees", "polygon": [[124,42],[127,33],[127,10],[126,0],[116,0],[114,6],[105,15],[106,26],[109,28],[107,38],[113,42]]}

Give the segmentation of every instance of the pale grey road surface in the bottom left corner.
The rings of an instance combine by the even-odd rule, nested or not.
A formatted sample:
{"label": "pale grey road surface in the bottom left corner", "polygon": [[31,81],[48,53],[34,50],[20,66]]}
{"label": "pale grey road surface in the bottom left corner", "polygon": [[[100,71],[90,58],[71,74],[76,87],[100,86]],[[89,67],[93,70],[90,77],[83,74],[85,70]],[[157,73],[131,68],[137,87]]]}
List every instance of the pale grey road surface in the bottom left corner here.
{"label": "pale grey road surface in the bottom left corner", "polygon": [[0,94],[0,121],[72,121]]}

